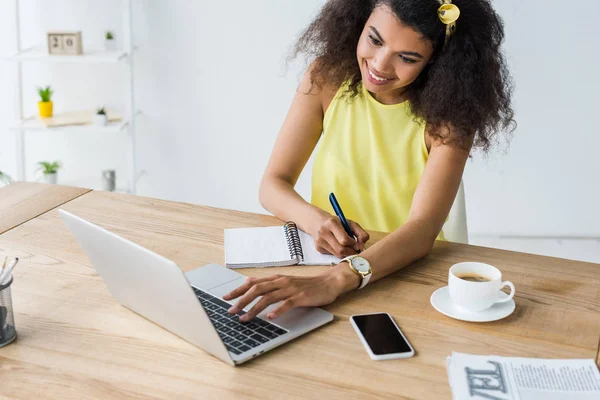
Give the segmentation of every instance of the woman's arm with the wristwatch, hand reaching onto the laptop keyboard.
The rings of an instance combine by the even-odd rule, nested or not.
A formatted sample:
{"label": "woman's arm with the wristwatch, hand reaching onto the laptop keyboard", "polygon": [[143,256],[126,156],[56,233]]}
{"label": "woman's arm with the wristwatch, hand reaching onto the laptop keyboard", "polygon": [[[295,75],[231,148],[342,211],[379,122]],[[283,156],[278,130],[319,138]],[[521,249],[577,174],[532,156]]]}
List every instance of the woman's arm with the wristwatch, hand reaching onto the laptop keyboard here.
{"label": "woman's arm with the wristwatch, hand reaching onto the laptop keyboard", "polygon": [[[361,256],[371,264],[371,282],[409,265],[429,253],[441,231],[458,191],[469,151],[434,143],[419,185],[413,197],[408,221],[371,246]],[[341,294],[359,286],[360,278],[346,263],[312,277],[273,276],[249,278],[232,291],[226,300],[240,297],[231,308],[241,311],[258,296],[263,296],[242,317],[249,320],[269,305],[282,301],[269,318],[277,318],[292,307],[321,306],[333,302]]]}

